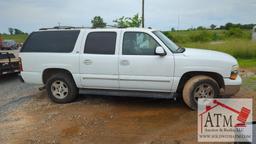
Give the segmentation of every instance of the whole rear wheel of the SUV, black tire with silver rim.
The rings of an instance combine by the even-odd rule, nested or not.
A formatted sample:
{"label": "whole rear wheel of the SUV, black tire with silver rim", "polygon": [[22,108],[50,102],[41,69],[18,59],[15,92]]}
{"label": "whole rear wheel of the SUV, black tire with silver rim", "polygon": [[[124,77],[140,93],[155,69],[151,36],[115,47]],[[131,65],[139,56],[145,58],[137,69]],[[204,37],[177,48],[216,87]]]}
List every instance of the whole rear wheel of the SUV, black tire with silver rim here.
{"label": "whole rear wheel of the SUV, black tire with silver rim", "polygon": [[72,77],[65,73],[51,76],[46,83],[49,98],[56,103],[73,102],[78,95],[78,88]]}

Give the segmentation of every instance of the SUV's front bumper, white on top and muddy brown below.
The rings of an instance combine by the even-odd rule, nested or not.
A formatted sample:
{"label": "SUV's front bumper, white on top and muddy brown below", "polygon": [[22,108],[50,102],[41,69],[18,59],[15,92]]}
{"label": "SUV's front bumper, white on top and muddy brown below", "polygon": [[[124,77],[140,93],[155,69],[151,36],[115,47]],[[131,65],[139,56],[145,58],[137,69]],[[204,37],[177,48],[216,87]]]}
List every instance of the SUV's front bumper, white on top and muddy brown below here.
{"label": "SUV's front bumper, white on top and muddy brown below", "polygon": [[240,76],[237,77],[236,80],[231,80],[229,78],[224,79],[225,88],[221,89],[221,96],[234,96],[240,90],[242,79]]}

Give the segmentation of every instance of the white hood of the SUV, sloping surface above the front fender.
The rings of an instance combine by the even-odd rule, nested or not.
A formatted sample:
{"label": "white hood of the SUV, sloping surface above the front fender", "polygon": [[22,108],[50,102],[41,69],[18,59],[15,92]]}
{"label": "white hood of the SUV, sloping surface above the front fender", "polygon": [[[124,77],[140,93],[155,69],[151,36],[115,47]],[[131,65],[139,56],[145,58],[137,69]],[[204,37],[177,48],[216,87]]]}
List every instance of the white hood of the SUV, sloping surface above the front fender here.
{"label": "white hood of the SUV, sloping surface above the front fender", "polygon": [[237,64],[237,60],[233,56],[213,50],[186,48],[186,51],[183,54],[186,57],[191,57],[193,59],[216,61],[222,63],[229,63],[232,65]]}

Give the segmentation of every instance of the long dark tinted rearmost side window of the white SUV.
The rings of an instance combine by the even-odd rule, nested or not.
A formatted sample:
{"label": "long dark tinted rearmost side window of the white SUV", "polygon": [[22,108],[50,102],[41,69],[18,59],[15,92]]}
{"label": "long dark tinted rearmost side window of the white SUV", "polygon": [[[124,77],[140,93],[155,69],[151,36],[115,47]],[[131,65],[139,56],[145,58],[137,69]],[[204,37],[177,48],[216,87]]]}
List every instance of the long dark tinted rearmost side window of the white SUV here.
{"label": "long dark tinted rearmost side window of the white SUV", "polygon": [[33,32],[21,52],[72,52],[80,31]]}

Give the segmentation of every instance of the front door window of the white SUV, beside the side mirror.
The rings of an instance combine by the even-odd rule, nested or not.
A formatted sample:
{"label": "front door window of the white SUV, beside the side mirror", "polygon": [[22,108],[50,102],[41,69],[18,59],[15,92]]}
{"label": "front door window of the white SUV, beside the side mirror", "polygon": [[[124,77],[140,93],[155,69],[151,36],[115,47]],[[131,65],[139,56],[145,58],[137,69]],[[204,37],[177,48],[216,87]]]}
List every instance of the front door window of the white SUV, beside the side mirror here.
{"label": "front door window of the white SUV, beside the side mirror", "polygon": [[155,55],[159,44],[150,35],[142,32],[125,32],[123,55]]}

